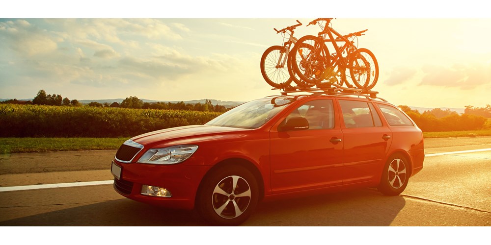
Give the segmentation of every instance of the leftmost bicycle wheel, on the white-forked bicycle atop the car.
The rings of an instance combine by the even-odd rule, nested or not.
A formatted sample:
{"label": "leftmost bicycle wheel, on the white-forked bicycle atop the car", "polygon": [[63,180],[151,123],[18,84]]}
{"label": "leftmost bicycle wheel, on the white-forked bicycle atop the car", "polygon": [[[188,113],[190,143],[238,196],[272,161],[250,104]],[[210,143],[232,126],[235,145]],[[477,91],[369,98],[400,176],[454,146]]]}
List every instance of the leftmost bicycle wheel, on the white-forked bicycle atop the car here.
{"label": "leftmost bicycle wheel, on the white-forked bicycle atop the car", "polygon": [[261,57],[261,74],[269,85],[277,89],[286,88],[292,82],[287,67],[281,66],[285,58],[284,49],[283,46],[272,46],[266,49]]}

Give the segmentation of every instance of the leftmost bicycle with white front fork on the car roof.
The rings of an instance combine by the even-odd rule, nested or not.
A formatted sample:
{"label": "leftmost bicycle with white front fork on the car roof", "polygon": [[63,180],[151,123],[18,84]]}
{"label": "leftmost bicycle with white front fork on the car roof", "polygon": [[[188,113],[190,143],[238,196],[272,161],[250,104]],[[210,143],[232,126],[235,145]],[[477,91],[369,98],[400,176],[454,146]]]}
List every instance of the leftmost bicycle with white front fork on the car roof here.
{"label": "leftmost bicycle with white front fork on the car roof", "polygon": [[[290,49],[292,45],[295,45],[298,41],[298,39],[294,37],[294,29],[297,28],[297,26],[302,25],[298,20],[297,23],[298,24],[296,25],[291,25],[281,30],[273,28],[276,33],[283,33],[283,38],[285,37],[284,34],[287,33],[287,31],[290,31],[290,33],[288,33],[290,37],[287,42],[283,43],[283,46],[272,46],[266,49],[261,56],[261,74],[269,85],[277,89],[290,87],[292,81],[299,86],[308,85],[292,72],[291,65],[293,63],[288,62]],[[285,65],[287,67],[285,67]]]}

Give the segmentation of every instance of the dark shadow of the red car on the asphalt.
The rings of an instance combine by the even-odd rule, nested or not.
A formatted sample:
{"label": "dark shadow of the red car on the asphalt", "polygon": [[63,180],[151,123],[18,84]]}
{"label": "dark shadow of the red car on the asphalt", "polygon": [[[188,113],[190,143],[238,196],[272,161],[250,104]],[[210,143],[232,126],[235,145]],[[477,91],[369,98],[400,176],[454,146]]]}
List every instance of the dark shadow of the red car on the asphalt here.
{"label": "dark shadow of the red car on the asphalt", "polygon": [[[262,202],[245,226],[388,226],[402,196],[361,189]],[[207,226],[194,210],[174,210],[130,199],[110,200],[1,221],[0,226]]]}

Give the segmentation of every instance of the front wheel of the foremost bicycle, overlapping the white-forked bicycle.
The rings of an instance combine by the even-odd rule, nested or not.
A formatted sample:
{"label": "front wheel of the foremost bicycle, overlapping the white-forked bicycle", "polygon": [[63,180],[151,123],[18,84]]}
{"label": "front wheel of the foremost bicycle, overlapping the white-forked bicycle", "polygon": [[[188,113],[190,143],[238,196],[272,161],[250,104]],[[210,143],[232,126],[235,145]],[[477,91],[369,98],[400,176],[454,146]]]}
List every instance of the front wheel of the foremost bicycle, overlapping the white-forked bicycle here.
{"label": "front wheel of the foremost bicycle, overlapping the white-forked bicycle", "polygon": [[330,55],[324,41],[316,36],[303,36],[290,51],[289,67],[298,74],[301,80],[317,84],[324,80],[324,72],[329,66]]}

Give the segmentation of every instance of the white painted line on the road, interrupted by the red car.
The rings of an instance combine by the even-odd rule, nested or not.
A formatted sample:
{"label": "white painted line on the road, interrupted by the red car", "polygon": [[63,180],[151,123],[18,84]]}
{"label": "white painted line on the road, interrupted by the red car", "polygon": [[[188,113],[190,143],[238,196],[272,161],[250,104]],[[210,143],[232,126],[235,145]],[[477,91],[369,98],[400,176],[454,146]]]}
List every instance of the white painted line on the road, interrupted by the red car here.
{"label": "white painted line on the road, interrupted by the red car", "polygon": [[[491,150],[491,148],[432,153],[432,154],[425,154],[425,157],[460,154],[460,153],[470,153],[470,152],[480,152],[480,151],[488,151],[488,150]],[[0,192],[36,190],[36,189],[47,189],[47,188],[60,188],[60,187],[75,187],[75,186],[90,186],[90,185],[109,185],[109,184],[112,185],[113,182],[114,182],[114,180],[103,180],[103,181],[45,184],[45,185],[10,186],[10,187],[0,187]]]}

